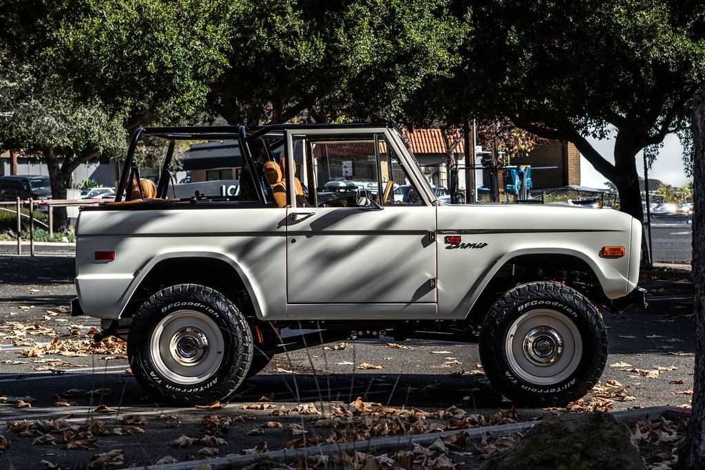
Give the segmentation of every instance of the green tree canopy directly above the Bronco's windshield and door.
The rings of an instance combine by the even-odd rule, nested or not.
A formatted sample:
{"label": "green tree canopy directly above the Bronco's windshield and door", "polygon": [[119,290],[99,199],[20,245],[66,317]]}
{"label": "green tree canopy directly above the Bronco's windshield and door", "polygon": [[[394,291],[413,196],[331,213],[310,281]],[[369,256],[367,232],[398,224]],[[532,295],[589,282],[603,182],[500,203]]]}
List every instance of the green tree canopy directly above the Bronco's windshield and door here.
{"label": "green tree canopy directly above the Bronco's windshield and door", "polygon": [[447,74],[467,35],[448,0],[243,0],[228,18],[228,69],[212,89],[231,123],[396,116]]}

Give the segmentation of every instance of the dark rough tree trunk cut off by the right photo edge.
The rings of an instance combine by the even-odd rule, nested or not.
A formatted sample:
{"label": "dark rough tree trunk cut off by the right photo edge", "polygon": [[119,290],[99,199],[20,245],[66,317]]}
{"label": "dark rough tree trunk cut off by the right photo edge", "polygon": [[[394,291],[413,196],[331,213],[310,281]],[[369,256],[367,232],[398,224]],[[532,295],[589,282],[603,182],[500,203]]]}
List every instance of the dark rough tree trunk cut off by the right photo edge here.
{"label": "dark rough tree trunk cut off by the right photo edge", "polygon": [[695,371],[693,409],[680,447],[678,468],[705,468],[705,86],[693,103],[693,263]]}

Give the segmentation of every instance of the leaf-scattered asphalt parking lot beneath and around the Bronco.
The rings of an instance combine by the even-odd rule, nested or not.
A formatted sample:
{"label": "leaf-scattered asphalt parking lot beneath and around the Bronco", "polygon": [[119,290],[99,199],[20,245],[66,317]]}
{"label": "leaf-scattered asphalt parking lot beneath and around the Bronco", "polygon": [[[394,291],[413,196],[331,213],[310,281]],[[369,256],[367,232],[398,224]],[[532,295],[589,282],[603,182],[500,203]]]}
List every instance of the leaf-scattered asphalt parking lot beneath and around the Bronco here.
{"label": "leaf-scattered asphalt parking lot beneath and around the Bronco", "polygon": [[[576,408],[623,410],[689,403],[694,364],[690,286],[662,280],[643,284],[654,295],[646,311],[605,317],[610,356],[602,386]],[[312,420],[321,418],[314,409],[330,412],[357,397],[386,407],[431,412],[454,405],[468,413],[491,415],[512,407],[486,381],[477,345],[407,340],[399,343],[402,347],[388,347],[391,338],[349,340],[340,350],[316,346],[280,354],[223,407],[169,407],[145,396],[119,345],[90,350],[91,328],[99,325],[94,319],[66,314],[73,296],[73,257],[0,256],[0,436],[11,440],[0,454],[0,468],[42,468],[42,460],[74,468],[91,462],[94,454],[114,449],[123,450],[124,466],[154,464],[167,455],[183,461],[208,452],[240,454],[263,442],[276,450],[295,445],[291,443],[303,431],[309,438],[327,435],[327,429],[312,426]],[[65,353],[42,354],[43,350]],[[357,369],[362,363],[381,369]],[[517,412],[527,420],[546,410]],[[142,418],[125,421],[135,414]],[[182,435],[202,438],[202,420],[215,415],[232,419],[230,432],[224,435],[227,444],[169,444]],[[60,418],[64,420],[56,421]],[[44,426],[54,420],[51,426],[59,428],[99,420],[109,431],[97,433],[93,442],[74,439],[78,448],[68,450],[61,430],[49,433],[39,424],[27,437],[13,431],[25,420]],[[446,426],[443,419],[428,422]],[[14,423],[13,429],[7,423]],[[47,442],[42,443],[46,435],[54,440],[43,438]],[[200,453],[203,448],[216,451]]]}

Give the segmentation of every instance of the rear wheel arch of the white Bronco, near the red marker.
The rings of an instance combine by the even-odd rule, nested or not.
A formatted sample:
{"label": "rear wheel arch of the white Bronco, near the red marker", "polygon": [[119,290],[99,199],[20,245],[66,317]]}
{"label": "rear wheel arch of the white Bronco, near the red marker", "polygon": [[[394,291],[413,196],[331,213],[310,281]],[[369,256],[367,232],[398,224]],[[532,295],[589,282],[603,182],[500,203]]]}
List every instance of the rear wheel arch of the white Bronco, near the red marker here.
{"label": "rear wheel arch of the white Bronco, near the red marker", "polygon": [[262,297],[250,276],[237,260],[219,252],[173,252],[161,254],[149,261],[135,276],[133,286],[120,318],[131,316],[149,295],[169,285],[193,283],[212,287],[233,300],[250,302],[240,306],[247,316],[262,318]]}

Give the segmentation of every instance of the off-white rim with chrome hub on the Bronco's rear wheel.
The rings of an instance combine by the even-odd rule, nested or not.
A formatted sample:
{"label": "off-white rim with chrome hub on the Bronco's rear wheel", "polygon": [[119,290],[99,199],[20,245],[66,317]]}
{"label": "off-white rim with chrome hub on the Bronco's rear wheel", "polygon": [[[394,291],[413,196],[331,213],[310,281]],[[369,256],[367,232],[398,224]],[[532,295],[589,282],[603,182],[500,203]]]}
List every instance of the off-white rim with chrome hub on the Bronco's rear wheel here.
{"label": "off-white rim with chrome hub on the Bronco's rear wheel", "polygon": [[223,333],[199,311],[179,310],[161,319],[152,331],[149,352],[162,376],[181,385],[207,380],[223,361]]}

